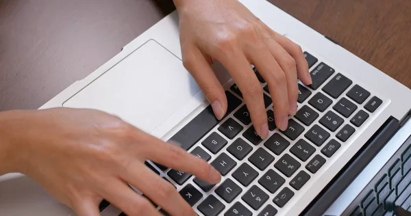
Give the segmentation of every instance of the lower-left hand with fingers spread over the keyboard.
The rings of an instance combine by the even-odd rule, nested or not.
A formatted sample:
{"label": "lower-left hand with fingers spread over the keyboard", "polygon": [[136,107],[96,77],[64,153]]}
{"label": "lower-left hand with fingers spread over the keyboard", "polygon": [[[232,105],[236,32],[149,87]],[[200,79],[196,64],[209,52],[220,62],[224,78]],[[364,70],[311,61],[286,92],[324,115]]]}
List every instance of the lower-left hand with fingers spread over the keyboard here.
{"label": "lower-left hand with fingers spread over the keyboard", "polygon": [[0,114],[17,165],[78,215],[99,215],[105,199],[127,215],[159,215],[127,183],[171,215],[196,215],[178,191],[144,165],[151,160],[210,184],[221,175],[206,161],[123,120],[92,109],[7,111]]}

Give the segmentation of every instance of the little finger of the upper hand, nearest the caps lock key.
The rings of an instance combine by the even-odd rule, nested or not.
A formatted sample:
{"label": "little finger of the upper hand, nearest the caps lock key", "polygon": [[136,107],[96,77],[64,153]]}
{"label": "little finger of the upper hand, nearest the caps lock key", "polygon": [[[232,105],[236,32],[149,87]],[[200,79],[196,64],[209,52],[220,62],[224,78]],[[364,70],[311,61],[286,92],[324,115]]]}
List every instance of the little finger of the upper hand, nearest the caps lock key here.
{"label": "little finger of the upper hand, nearest the caps lock key", "polygon": [[295,59],[297,64],[297,73],[301,82],[306,85],[312,84],[310,72],[308,71],[308,63],[306,57],[304,57],[301,46],[295,44],[290,39],[276,33],[271,30],[271,35],[274,40],[278,42],[290,55]]}

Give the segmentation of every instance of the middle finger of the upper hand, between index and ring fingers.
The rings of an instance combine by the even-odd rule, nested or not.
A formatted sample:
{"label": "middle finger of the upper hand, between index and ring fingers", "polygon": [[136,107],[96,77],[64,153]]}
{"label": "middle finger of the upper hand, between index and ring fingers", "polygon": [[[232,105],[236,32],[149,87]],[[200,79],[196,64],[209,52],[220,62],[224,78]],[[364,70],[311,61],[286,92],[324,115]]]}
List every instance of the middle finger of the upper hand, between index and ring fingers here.
{"label": "middle finger of the upper hand, between index and ring fingers", "polygon": [[[250,58],[269,85],[274,105],[275,124],[285,131],[288,126],[288,113],[290,113],[286,75],[265,46],[254,50]],[[297,77],[295,81],[297,82]]]}

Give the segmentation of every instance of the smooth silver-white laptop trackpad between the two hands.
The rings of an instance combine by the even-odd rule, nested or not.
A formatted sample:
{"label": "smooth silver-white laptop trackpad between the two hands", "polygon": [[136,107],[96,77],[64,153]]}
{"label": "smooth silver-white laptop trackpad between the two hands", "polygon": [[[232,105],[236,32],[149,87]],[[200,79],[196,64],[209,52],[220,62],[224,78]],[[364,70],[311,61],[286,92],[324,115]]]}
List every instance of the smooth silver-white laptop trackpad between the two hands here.
{"label": "smooth silver-white laptop trackpad between the two hands", "polygon": [[106,111],[150,133],[198,92],[182,61],[149,40],[63,107]]}

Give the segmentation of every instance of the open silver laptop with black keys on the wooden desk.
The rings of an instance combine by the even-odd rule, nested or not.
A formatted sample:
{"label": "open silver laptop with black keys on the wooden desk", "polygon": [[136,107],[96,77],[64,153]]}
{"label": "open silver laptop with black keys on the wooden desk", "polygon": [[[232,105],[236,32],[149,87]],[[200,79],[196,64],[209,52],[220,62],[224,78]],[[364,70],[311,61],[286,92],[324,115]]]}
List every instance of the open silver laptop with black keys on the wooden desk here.
{"label": "open silver laptop with black keys on the wooden desk", "polygon": [[[310,66],[315,85],[299,83],[299,109],[290,116],[286,131],[271,124],[266,139],[254,133],[241,92],[218,62],[213,69],[225,87],[229,108],[223,120],[214,118],[182,65],[176,12],[40,109],[106,111],[164,141],[178,141],[188,152],[208,160],[223,175],[221,183],[212,187],[190,174],[146,163],[178,191],[200,193],[199,200],[190,202],[198,215],[322,215],[406,124],[411,90],[275,5],[263,0],[240,2],[299,44]],[[255,71],[258,74],[258,68]],[[269,92],[260,81],[273,123]],[[217,139],[214,148],[210,142]],[[390,146],[387,158],[403,150],[403,144]],[[408,180],[403,167],[411,161],[408,153],[404,155],[399,157],[400,181]],[[244,169],[247,175],[242,175]],[[406,180],[401,188],[407,187]],[[354,207],[347,206],[347,212]],[[74,215],[21,174],[0,177],[0,209],[2,215]],[[105,201],[100,209],[101,215],[123,214]],[[360,204],[359,212],[364,211],[370,210]]]}

